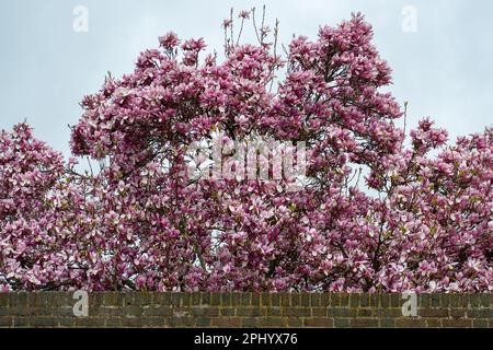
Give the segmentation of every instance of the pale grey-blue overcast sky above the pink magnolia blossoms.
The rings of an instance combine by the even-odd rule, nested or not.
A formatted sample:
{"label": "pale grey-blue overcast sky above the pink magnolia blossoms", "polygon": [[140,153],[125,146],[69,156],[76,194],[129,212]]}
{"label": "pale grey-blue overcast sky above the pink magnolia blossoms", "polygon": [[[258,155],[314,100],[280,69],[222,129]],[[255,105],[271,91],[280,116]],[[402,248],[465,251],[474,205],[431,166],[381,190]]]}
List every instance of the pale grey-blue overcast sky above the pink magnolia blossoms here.
{"label": "pale grey-blue overcast sky above the pink magnolia blossoms", "polygon": [[[393,69],[390,91],[410,102],[410,125],[431,116],[455,138],[493,124],[491,0],[1,0],[0,129],[27,119],[36,137],[68,155],[67,125],[107,71],[130,72],[138,52],[169,31],[204,37],[220,51],[229,9],[264,3],[285,44],[294,33],[314,37],[319,25],[363,12]],[[77,5],[88,9],[87,33],[73,30]],[[416,32],[403,9],[417,11]]]}

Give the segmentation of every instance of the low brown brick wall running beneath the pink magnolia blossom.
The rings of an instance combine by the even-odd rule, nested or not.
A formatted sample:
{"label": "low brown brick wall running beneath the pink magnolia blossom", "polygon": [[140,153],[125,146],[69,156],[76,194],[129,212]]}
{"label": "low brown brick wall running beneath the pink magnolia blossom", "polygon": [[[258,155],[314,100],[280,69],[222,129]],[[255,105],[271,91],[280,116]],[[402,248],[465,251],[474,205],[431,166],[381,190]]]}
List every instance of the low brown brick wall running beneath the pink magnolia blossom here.
{"label": "low brown brick wall running beneath the pink magnolia blossom", "polygon": [[493,294],[423,294],[417,317],[401,294],[89,294],[74,316],[72,293],[0,294],[0,327],[493,327]]}

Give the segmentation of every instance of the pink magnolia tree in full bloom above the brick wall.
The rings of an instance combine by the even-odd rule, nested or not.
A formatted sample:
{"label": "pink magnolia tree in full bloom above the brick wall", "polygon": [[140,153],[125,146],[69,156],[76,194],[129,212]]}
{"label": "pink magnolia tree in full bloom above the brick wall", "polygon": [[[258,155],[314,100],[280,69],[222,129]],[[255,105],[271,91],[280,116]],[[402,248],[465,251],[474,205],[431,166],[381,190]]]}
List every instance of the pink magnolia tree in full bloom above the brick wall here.
{"label": "pink magnolia tree in full bloom above the brick wall", "polygon": [[[362,15],[285,55],[254,15],[254,45],[225,21],[222,60],[170,33],[85,96],[71,149],[98,172],[25,124],[1,133],[2,290],[493,291],[493,129],[447,145],[424,119],[404,143]],[[228,144],[253,138],[303,144],[302,176],[289,147],[240,176]]]}

